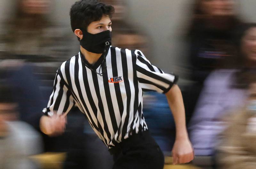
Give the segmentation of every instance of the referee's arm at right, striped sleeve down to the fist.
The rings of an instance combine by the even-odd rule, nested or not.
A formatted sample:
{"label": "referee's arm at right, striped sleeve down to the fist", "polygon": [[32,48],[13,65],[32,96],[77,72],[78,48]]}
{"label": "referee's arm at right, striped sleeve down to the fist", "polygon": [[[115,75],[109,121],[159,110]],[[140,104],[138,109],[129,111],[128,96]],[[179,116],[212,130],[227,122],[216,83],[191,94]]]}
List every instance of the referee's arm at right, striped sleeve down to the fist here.
{"label": "referee's arm at right, striped sleeve down to the fist", "polygon": [[176,139],[172,149],[173,164],[188,163],[194,158],[194,152],[188,139],[182,95],[176,85],[178,76],[164,73],[151,65],[141,51],[135,50],[135,54],[137,77],[142,91],[165,93],[172,110],[176,126]]}

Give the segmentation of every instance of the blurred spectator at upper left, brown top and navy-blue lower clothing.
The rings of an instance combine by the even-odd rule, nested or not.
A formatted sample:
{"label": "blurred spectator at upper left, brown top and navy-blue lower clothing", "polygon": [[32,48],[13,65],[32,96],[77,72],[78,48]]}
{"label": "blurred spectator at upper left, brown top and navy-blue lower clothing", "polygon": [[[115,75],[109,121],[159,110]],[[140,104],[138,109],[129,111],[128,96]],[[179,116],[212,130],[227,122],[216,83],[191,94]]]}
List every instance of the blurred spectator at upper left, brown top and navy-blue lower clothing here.
{"label": "blurred spectator at upper left, brown top and navy-blue lower clothing", "polygon": [[13,4],[14,15],[3,22],[0,31],[0,78],[15,91],[20,119],[39,129],[42,105],[47,103],[42,93],[51,92],[45,85],[52,85],[54,78],[47,71],[59,66],[55,63],[54,68],[58,50],[52,46],[62,40],[48,18],[50,0],[15,0]]}

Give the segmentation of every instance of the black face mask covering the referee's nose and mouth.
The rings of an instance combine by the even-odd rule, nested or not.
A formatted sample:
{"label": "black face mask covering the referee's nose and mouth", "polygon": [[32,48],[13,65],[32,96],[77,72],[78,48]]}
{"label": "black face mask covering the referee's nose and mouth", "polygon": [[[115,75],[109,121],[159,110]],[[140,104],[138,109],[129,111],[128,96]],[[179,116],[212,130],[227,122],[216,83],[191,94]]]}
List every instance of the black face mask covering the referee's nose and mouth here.
{"label": "black face mask covering the referee's nose and mouth", "polygon": [[80,30],[83,32],[80,45],[89,52],[101,54],[104,53],[106,45],[111,45],[111,31],[109,30],[96,34],[89,33],[84,29]]}

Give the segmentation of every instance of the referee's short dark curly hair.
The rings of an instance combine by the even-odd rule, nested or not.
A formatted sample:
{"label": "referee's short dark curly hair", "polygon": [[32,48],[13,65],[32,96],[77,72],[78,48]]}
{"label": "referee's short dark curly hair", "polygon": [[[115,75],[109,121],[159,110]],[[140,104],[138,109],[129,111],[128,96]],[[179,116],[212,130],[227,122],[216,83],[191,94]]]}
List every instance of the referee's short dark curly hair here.
{"label": "referee's short dark curly hair", "polygon": [[[111,5],[106,5],[99,0],[80,0],[71,6],[70,23],[72,31],[76,29],[87,29],[90,23],[99,21],[106,15],[112,18],[115,9]],[[78,38],[78,40],[80,40]]]}

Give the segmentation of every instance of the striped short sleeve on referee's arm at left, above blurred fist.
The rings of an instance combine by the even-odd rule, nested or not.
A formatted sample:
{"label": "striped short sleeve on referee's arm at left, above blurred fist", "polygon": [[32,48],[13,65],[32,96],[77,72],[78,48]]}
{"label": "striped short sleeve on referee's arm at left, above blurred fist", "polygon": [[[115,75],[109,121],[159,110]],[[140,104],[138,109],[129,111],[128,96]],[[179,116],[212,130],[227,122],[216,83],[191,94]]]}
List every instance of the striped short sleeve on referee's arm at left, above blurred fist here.
{"label": "striped short sleeve on referee's arm at left, above blurred fist", "polygon": [[52,94],[46,108],[43,109],[43,113],[52,116],[55,114],[65,114],[75,105],[73,96],[65,84],[61,75],[60,69],[57,71]]}

